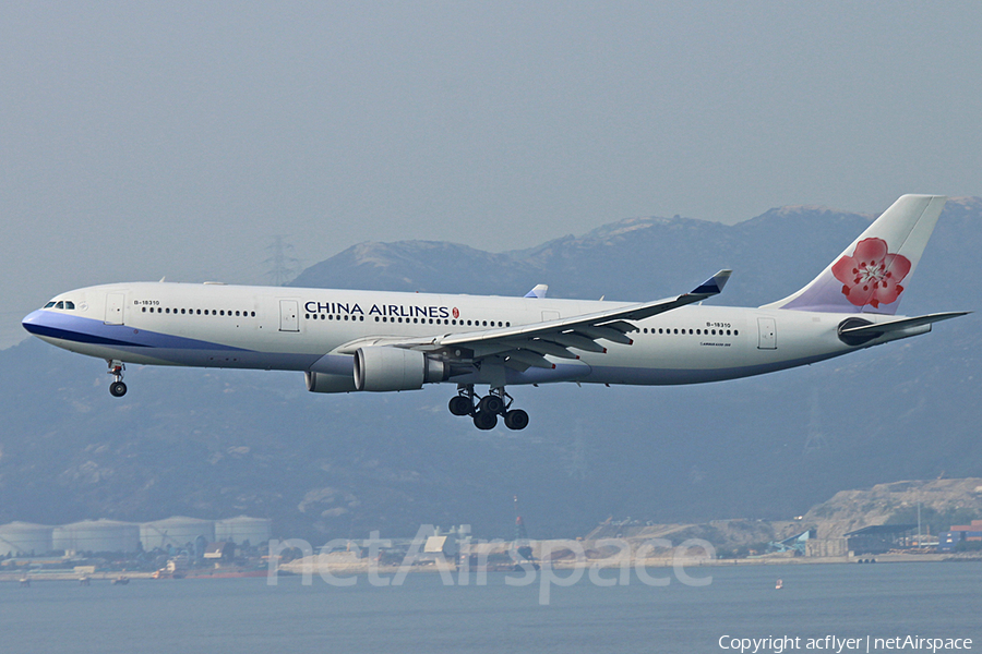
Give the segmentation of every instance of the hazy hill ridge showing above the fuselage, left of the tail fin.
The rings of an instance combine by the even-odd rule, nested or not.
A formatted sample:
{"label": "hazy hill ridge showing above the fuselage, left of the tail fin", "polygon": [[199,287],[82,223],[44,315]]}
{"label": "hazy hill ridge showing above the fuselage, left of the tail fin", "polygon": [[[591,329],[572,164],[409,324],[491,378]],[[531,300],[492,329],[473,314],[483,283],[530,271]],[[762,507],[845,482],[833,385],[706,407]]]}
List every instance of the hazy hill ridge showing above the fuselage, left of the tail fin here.
{"label": "hazy hill ridge showing above the fuselage, left of the tail fin", "polygon": [[727,302],[763,304],[811,280],[872,218],[813,207],[773,209],[735,226],[630,218],[500,254],[431,241],[361,243],[289,286],[523,295],[541,282],[554,298],[649,300],[729,267]]}

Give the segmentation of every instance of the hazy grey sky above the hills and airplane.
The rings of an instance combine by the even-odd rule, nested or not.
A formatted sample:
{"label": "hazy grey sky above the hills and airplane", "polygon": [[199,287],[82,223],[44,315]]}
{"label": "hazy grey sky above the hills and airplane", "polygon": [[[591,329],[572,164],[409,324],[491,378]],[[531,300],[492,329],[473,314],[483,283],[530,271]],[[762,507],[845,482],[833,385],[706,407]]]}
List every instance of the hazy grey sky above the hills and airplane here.
{"label": "hazy grey sky above the hills and airplane", "polygon": [[80,286],[262,282],[274,234],[982,195],[980,34],[978,1],[7,2],[0,347]]}

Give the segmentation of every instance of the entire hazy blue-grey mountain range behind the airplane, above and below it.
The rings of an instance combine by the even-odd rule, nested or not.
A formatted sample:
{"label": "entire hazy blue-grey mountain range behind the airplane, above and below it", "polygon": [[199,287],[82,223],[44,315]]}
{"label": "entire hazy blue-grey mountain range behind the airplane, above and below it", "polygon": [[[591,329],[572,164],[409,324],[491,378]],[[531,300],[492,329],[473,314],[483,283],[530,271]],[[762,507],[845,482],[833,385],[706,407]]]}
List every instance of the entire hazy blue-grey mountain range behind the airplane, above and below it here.
{"label": "entire hazy blue-grey mountain range behind the airplane, above and below it", "polygon": [[[363,243],[295,286],[646,300],[734,269],[712,302],[758,305],[806,283],[872,216],[786,207],[734,226],[614,222],[487,253]],[[982,306],[982,199],[949,201],[906,313]],[[274,519],[312,541],[469,523],[508,536],[512,496],[532,537],[609,516],[655,522],[787,519],[843,488],[982,476],[977,315],[927,336],[764,377],[674,388],[514,388],[525,432],[478,432],[452,387],[316,396],[302,375],[105,364],[36,340],[0,351],[0,523],[171,514]]]}

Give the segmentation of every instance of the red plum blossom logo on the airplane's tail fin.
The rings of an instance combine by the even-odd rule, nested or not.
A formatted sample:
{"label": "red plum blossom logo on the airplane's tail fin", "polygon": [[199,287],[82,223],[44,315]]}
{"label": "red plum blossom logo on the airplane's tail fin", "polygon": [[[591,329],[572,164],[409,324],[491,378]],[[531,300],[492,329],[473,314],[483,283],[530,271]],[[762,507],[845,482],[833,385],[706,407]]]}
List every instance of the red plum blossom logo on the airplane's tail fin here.
{"label": "red plum blossom logo on the airplane's tail fin", "polygon": [[883,239],[863,239],[852,256],[843,256],[833,264],[833,275],[842,282],[842,294],[855,306],[896,302],[903,287],[900,282],[910,272],[910,261],[902,254],[890,254]]}

